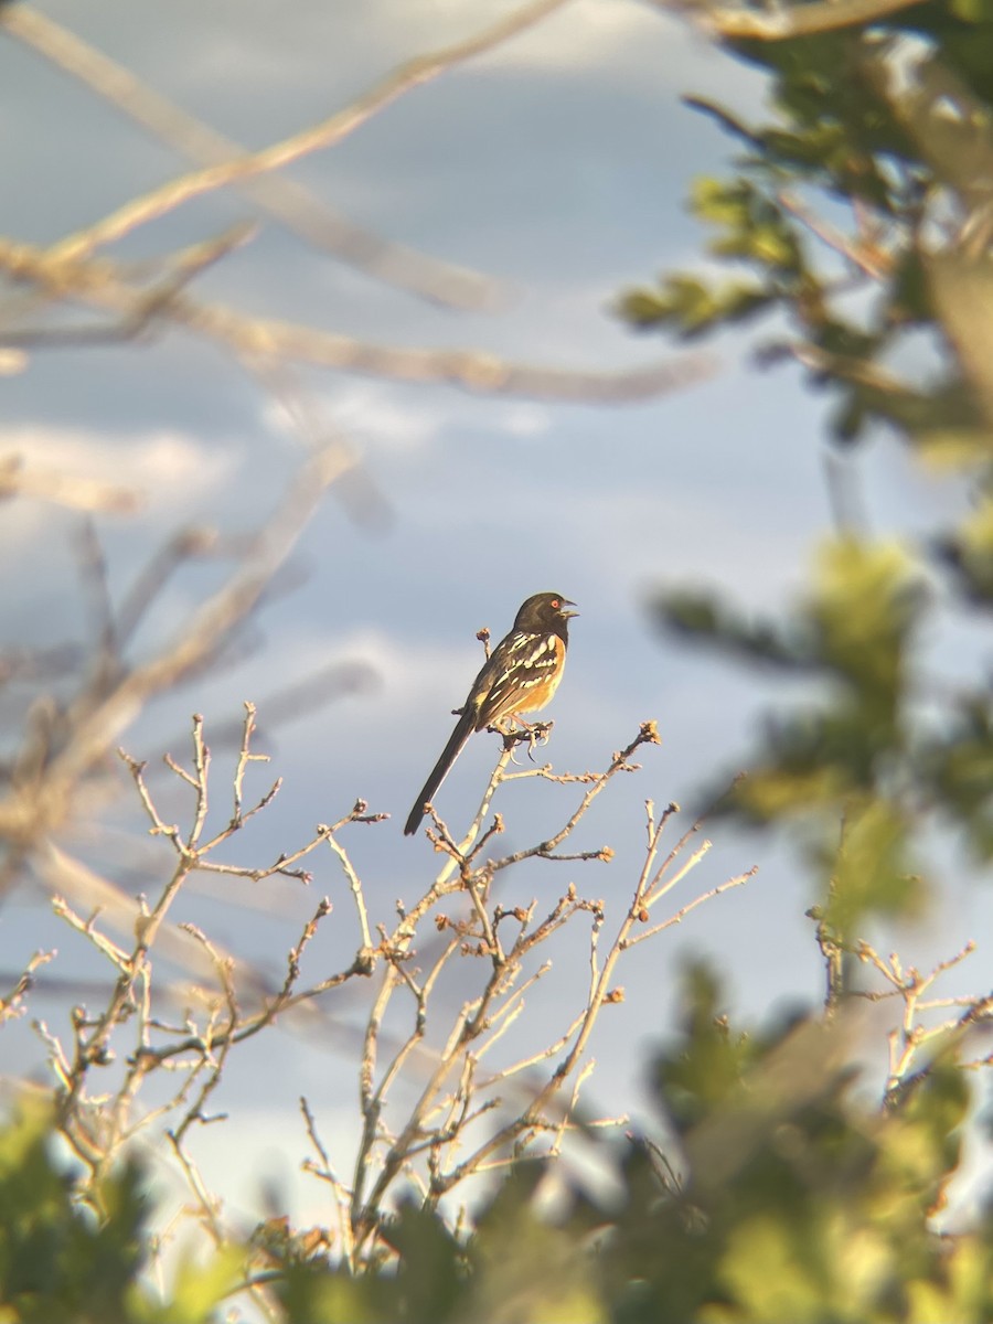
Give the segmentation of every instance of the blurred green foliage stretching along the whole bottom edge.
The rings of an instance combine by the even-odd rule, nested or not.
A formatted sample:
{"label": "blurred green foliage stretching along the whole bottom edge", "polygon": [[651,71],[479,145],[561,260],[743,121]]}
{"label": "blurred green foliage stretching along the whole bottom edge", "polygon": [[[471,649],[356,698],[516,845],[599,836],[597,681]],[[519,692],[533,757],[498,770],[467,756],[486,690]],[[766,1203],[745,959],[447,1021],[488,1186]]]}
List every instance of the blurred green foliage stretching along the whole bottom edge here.
{"label": "blurred green foliage stretching along the whole bottom edge", "polygon": [[743,1033],[711,973],[690,970],[651,1072],[671,1158],[651,1136],[589,1131],[605,1185],[520,1164],[469,1234],[410,1201],[383,1215],[396,1262],[357,1275],[332,1239],[270,1227],[263,1249],[181,1264],[164,1301],[139,1283],[135,1170],[107,1180],[99,1214],[78,1209],[52,1119],[23,1116],[0,1132],[0,1320],[220,1320],[254,1280],[281,1324],[986,1324],[993,1219],[933,1227],[969,1107],[955,1045],[880,1112],[857,1088],[851,1034],[845,1017]]}

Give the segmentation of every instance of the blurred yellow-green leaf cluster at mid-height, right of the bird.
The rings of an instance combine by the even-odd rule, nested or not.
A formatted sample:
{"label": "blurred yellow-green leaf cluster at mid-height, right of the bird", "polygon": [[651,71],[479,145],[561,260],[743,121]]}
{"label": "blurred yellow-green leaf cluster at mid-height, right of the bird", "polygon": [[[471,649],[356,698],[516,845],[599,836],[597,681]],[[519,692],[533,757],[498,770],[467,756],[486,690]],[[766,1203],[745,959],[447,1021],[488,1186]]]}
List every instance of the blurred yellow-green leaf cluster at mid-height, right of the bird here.
{"label": "blurred yellow-green leaf cluster at mid-height, right of the bird", "polygon": [[[919,900],[914,831],[924,809],[955,804],[964,817],[947,763],[916,733],[910,663],[929,602],[900,544],[842,538],[821,548],[810,588],[782,625],[752,624],[700,593],[655,604],[682,636],[822,682],[820,698],[768,723],[723,808],[801,830],[824,918],[842,936],[867,914],[906,912]],[[978,826],[993,785],[973,788]]]}

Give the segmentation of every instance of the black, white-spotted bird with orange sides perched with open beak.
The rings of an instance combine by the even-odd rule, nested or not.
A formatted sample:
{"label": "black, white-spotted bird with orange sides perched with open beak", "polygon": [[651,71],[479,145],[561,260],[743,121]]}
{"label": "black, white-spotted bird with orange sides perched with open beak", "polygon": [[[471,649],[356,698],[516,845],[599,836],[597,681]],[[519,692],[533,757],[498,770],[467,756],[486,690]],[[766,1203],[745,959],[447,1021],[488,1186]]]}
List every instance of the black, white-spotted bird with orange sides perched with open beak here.
{"label": "black, white-spotted bird with orange sides perched with open beak", "polygon": [[496,645],[473,682],[458,724],[406,820],[406,837],[420,828],[424,806],[434,798],[474,731],[499,727],[504,718],[512,722],[524,712],[536,712],[555,694],[565,667],[569,620],[579,616],[579,612],[568,612],[569,606],[575,602],[561,593],[535,593],[523,604],[514,629]]}

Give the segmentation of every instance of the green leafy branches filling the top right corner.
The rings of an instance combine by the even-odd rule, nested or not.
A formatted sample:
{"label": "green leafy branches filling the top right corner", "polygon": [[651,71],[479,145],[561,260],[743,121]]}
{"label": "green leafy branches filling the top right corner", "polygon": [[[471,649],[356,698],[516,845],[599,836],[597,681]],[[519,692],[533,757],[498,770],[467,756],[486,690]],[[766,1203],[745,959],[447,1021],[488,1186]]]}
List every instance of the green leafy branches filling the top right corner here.
{"label": "green leafy branches filling the top right corner", "polygon": [[[896,56],[910,37],[916,53]],[[626,291],[620,315],[694,339],[776,312],[759,359],[796,361],[830,391],[838,440],[886,424],[945,462],[985,466],[989,416],[939,316],[932,254],[981,207],[993,162],[988,7],[914,5],[870,28],[727,46],[768,74],[773,110],[747,124],[687,98],[743,146],[735,172],[699,179],[690,199],[733,274],[666,273]],[[928,372],[899,371],[923,332]]]}

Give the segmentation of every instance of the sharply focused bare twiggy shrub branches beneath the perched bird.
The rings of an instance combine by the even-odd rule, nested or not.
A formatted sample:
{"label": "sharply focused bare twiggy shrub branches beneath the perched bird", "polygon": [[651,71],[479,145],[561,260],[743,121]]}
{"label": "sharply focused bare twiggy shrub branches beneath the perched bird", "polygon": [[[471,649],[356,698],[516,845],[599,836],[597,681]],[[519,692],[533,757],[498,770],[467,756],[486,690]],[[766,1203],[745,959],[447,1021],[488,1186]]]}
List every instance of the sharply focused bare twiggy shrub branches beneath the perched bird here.
{"label": "sharply focused bare twiggy shrub branches beneath the perched bird", "polygon": [[[545,911],[539,911],[534,898],[511,902],[506,882],[502,899],[493,899],[496,876],[512,871],[511,888],[518,878],[530,886],[526,866],[547,869],[564,858],[556,847],[573,833],[597,796],[621,772],[636,771],[630,761],[636,749],[657,743],[654,726],[643,723],[602,772],[557,776],[549,767],[536,769],[565,786],[576,784],[579,802],[557,831],[527,850],[489,857],[487,849],[498,834],[486,830],[481,818],[458,845],[436,820],[429,835],[446,857],[445,865],[412,904],[397,903],[392,923],[373,924],[344,834],[363,825],[381,825],[387,816],[369,813],[363,801],[336,822],[320,825],[310,841],[275,862],[249,867],[225,861],[228,843],[271,805],[279,784],[277,779],[261,797],[248,792],[250,768],[265,761],[253,743],[256,722],[256,708],[248,703],[229,780],[230,816],[220,826],[211,809],[218,800],[212,789],[217,772],[199,715],[192,722],[189,760],[166,759],[189,797],[181,822],[162,813],[146,765],[122,753],[148,830],[171,859],[158,891],[147,900],[134,902],[123,894],[115,898],[106,880],[98,880],[102,888],[90,890],[93,878],[86,867],[50,849],[53,876],[65,880],[82,871],[75,894],[89,898],[89,914],[64,898],[56,900],[54,908],[107,963],[109,994],[97,1012],[78,1006],[65,1034],[44,1022],[36,1022],[36,1029],[56,1082],[60,1127],[89,1174],[83,1189],[97,1190],[109,1165],[128,1145],[162,1131],[189,1186],[196,1217],[220,1243],[226,1237],[222,1206],[208,1190],[195,1151],[200,1128],[224,1120],[212,1103],[220,1098],[230,1054],[306,1008],[330,1009],[328,997],[359,980],[369,997],[359,1047],[359,1145],[350,1180],[339,1174],[340,1165],[319,1140],[310,1106],[301,1104],[318,1156],[306,1166],[327,1185],[336,1211],[335,1251],[359,1271],[392,1256],[388,1241],[380,1235],[383,1217],[410,1185],[429,1206],[437,1206],[470,1180],[500,1170],[515,1155],[530,1149],[561,1152],[575,1129],[580,1091],[593,1071],[587,1047],[600,1012],[622,1001],[622,990],[613,984],[617,963],[633,945],[630,937],[642,923],[645,906],[685,879],[703,858],[702,851],[686,861],[681,855],[682,845],[699,825],[655,867],[661,833],[674,806],[658,822],[650,810],[646,861],[605,949],[601,935],[606,906],[583,895],[575,883],[568,883]],[[485,805],[503,780],[515,776],[507,768],[516,743],[504,737]],[[196,874],[214,871],[260,882],[275,874],[303,876],[297,862],[323,845],[330,847],[354,903],[355,956],[339,970],[310,982],[303,973],[306,949],[331,914],[327,898],[287,953],[278,986],[270,986],[199,927],[172,920],[183,890]],[[569,858],[588,867],[610,855],[601,847]],[[722,890],[715,887],[706,895]],[[111,936],[106,924],[122,936]],[[665,927],[659,924],[655,931]],[[585,988],[580,982],[567,994],[575,1002],[560,1027],[535,1045],[528,996],[553,974],[549,944],[571,933],[572,941],[587,948],[589,978]],[[179,960],[193,982],[179,989],[163,973],[155,973],[154,952]],[[567,984],[568,967],[567,961],[561,976]],[[453,978],[463,988],[455,1008],[445,992]],[[26,986],[23,981],[15,997]],[[13,998],[8,1001],[13,1004]],[[184,1008],[179,1019],[171,1010],[176,1005]],[[152,1080],[159,1087],[152,1088]],[[612,1123],[602,1119],[602,1124]]]}

